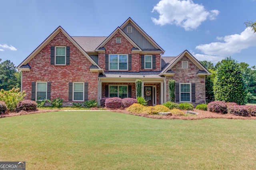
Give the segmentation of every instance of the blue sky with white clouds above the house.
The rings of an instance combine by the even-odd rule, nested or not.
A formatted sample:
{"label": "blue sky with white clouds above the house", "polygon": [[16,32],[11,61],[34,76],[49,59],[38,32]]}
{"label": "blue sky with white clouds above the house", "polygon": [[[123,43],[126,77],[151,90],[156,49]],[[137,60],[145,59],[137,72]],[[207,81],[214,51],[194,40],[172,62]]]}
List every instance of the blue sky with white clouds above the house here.
{"label": "blue sky with white clouds above the house", "polygon": [[231,56],[256,65],[256,0],[0,0],[0,58],[18,66],[58,26],[70,36],[109,36],[129,17],[173,57]]}

